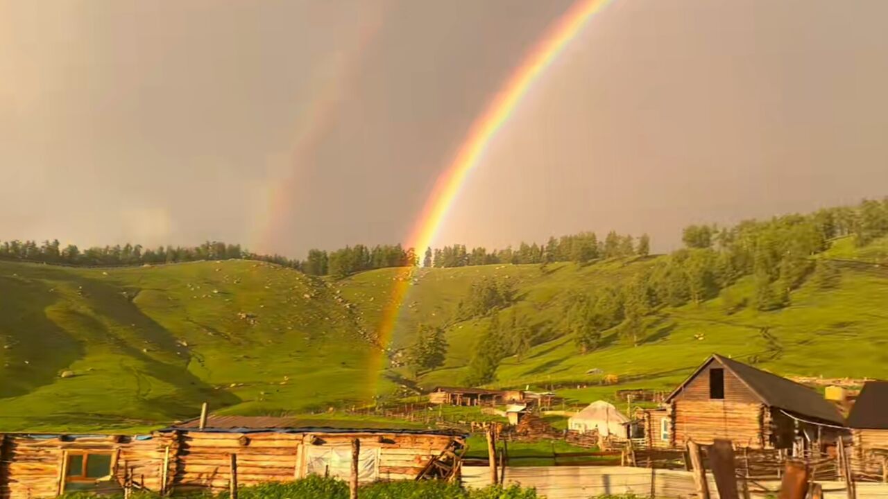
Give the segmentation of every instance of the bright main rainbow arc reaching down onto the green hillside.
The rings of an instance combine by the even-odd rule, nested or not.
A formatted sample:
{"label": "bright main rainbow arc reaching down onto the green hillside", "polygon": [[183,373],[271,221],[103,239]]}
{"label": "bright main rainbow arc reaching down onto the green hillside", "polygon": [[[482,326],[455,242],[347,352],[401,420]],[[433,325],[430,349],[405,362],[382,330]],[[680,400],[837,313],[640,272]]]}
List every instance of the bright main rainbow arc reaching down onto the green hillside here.
{"label": "bright main rainbow arc reaching down onto the green hillside", "polygon": [[[583,31],[589,20],[612,0],[579,0],[573,4],[555,25],[546,33],[517,67],[488,104],[484,113],[472,123],[463,145],[459,147],[454,161],[435,182],[432,193],[425,202],[424,209],[417,218],[416,225],[408,238],[407,248],[415,248],[422,255],[432,245],[448,210],[459,194],[466,178],[478,165],[496,133],[509,121],[533,84],[545,73],[559,54]],[[392,332],[398,321],[401,305],[407,296],[410,282],[416,269],[401,269],[396,276],[392,295],[389,298],[377,329],[377,338],[384,348],[392,340]],[[372,394],[377,393],[378,373],[382,368],[383,353],[371,360],[370,380]]]}

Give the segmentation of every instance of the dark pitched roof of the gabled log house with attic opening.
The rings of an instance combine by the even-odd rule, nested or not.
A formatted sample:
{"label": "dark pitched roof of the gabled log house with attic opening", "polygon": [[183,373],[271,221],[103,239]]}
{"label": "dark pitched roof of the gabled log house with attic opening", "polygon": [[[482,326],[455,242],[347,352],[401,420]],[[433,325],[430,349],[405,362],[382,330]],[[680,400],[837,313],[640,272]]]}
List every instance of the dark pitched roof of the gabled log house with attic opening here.
{"label": "dark pitched roof of the gabled log house with attic opening", "polygon": [[838,408],[824,399],[820,393],[805,386],[797,384],[789,379],[765,372],[761,369],[747,366],[736,360],[731,360],[721,355],[713,354],[709,360],[694,371],[684,383],[680,384],[666,399],[667,402],[675,398],[679,392],[696,377],[710,362],[718,362],[725,369],[737,376],[743,384],[753,392],[766,406],[781,408],[800,417],[808,417],[821,422],[842,424],[844,418]]}

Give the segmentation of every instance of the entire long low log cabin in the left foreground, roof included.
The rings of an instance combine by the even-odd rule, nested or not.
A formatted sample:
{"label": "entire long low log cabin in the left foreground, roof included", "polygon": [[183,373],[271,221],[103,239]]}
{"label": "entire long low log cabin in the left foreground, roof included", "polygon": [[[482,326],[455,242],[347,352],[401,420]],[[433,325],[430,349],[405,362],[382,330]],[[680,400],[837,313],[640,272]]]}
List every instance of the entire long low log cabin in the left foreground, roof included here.
{"label": "entire long low log cabin in the left foreground, roof included", "polygon": [[150,435],[6,434],[0,499],[71,490],[119,491],[128,480],[155,492],[227,489],[309,474],[347,479],[359,440],[359,480],[450,478],[465,435],[449,431],[306,427],[289,417],[210,416]]}

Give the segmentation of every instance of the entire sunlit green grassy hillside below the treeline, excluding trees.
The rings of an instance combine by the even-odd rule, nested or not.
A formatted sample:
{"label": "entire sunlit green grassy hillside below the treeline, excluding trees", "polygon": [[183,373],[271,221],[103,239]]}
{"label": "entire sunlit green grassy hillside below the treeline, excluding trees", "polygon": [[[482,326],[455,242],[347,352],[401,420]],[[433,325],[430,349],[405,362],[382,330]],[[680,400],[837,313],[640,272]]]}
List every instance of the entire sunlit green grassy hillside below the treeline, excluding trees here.
{"label": "entire sunlit green grassy hillside below the treeline, excluding trees", "polygon": [[[456,309],[488,277],[517,291],[501,321],[515,313],[554,338],[520,362],[503,360],[496,385],[554,385],[591,401],[615,388],[667,389],[711,352],[784,375],[888,377],[888,270],[878,266],[886,256],[888,240],[863,249],[838,240],[819,256],[841,270],[834,289],[805,283],[792,305],[767,313],[728,314],[721,298],[662,308],[645,318],[641,345],[607,333],[585,355],[551,330],[567,297],[629,280],[657,257],[380,269],[341,281],[246,260],[125,269],[0,262],[0,430],[147,427],[195,416],[202,401],[238,414],[316,413],[369,400],[377,379],[392,393],[393,380],[410,375],[371,372],[374,335],[404,279],[392,347],[412,344],[420,322],[445,327],[450,345],[445,366],[416,380],[425,387],[464,376],[489,319],[458,321]],[[749,296],[750,278],[729,291]],[[607,374],[621,383],[599,384]]]}

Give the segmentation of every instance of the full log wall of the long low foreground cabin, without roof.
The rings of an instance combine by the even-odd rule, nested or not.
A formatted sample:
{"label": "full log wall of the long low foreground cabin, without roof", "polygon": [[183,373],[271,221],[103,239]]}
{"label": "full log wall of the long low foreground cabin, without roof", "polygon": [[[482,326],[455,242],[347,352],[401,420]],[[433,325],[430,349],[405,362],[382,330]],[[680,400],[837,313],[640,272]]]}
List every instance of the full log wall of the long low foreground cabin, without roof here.
{"label": "full log wall of the long low foreground cabin, without roof", "polygon": [[372,477],[362,479],[416,479],[433,460],[450,452],[455,440],[446,435],[366,432],[158,432],[147,440],[0,435],[0,499],[56,496],[65,451],[112,455],[115,481],[123,482],[129,473],[137,484],[155,492],[221,491],[230,485],[233,454],[237,482],[243,487],[302,478],[308,471],[307,448],[350,449],[354,439],[361,440],[361,455],[376,457]]}

